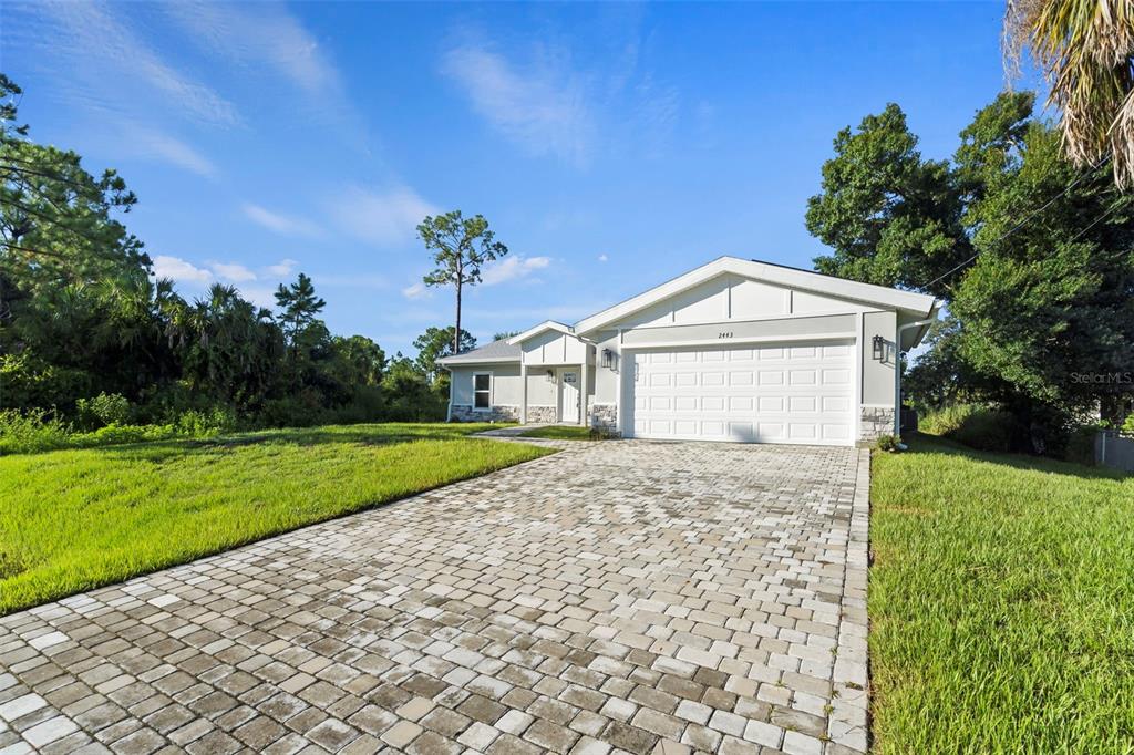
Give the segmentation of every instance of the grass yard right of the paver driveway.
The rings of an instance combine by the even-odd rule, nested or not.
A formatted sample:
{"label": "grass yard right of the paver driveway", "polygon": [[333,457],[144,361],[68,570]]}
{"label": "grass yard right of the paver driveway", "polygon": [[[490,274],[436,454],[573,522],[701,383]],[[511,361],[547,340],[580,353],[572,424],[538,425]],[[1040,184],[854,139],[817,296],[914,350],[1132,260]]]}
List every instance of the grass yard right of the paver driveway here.
{"label": "grass yard right of the paver driveway", "polygon": [[871,507],[874,752],[1134,752],[1134,477],[920,436]]}

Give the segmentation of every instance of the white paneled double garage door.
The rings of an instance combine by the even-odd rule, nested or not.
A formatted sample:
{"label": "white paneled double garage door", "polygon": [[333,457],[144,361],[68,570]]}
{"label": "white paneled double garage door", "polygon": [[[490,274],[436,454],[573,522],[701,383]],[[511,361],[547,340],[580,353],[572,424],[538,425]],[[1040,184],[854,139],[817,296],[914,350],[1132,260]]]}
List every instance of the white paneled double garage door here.
{"label": "white paneled double garage door", "polygon": [[846,446],[849,341],[633,353],[635,438]]}

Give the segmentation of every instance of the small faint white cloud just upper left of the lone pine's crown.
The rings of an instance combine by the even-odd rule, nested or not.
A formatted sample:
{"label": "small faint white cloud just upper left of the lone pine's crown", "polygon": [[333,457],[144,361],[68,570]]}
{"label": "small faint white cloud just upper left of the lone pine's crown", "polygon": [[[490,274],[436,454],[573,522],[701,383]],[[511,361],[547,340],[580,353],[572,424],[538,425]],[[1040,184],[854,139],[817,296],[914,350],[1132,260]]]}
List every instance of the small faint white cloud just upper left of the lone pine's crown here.
{"label": "small faint white cloud just upper left of the lone pine's crown", "polygon": [[328,211],[342,230],[379,246],[412,239],[425,215],[438,213],[435,206],[405,186],[384,190],[353,186]]}

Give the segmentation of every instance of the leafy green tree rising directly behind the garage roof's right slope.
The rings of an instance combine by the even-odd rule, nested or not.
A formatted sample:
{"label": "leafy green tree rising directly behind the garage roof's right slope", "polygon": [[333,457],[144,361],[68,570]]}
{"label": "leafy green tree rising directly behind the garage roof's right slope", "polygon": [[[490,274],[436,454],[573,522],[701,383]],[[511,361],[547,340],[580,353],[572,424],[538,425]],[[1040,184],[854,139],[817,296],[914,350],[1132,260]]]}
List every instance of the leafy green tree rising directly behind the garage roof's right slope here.
{"label": "leafy green tree rising directly behind the garage roof's right slope", "polygon": [[822,173],[805,215],[833,251],[815,258],[820,272],[922,288],[971,254],[949,163],[922,158],[898,105],[840,130]]}

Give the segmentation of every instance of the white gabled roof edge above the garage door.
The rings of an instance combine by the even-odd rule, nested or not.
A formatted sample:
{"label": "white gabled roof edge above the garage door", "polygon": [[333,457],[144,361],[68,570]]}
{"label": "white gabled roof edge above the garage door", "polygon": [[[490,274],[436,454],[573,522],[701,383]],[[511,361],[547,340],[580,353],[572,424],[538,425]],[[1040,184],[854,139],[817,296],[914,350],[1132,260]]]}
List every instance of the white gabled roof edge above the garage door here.
{"label": "white gabled roof edge above the garage door", "polygon": [[759,262],[756,260],[725,256],[695,268],[683,275],[655,286],[625,302],[607,307],[602,312],[584,317],[575,323],[574,332],[582,334],[598,330],[725,273],[743,275],[794,289],[824,294],[840,299],[850,299],[887,309],[900,309],[917,317],[929,316],[936,303],[932,296],[925,294],[902,291],[872,283],[860,283],[858,281],[846,280],[845,278],[824,275],[798,268],[785,268],[784,265]]}

